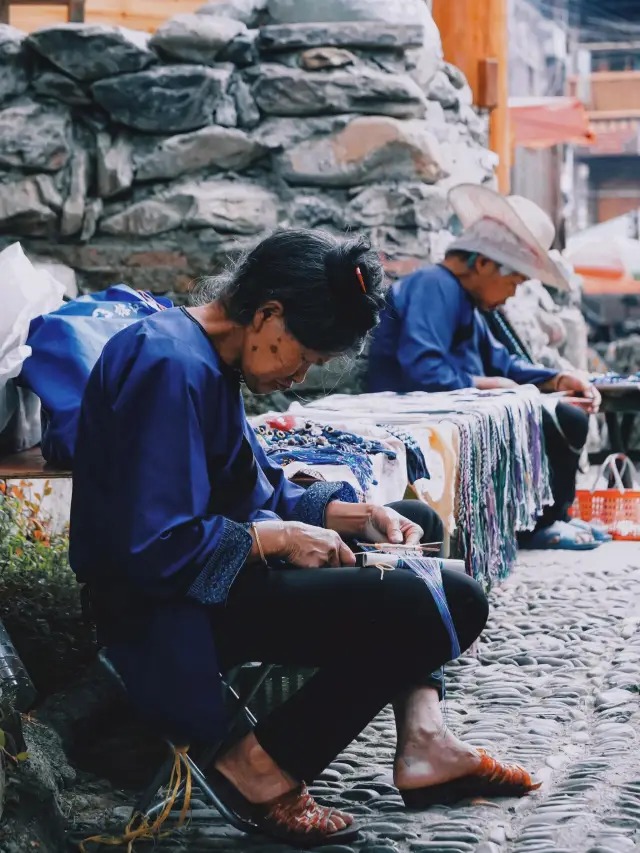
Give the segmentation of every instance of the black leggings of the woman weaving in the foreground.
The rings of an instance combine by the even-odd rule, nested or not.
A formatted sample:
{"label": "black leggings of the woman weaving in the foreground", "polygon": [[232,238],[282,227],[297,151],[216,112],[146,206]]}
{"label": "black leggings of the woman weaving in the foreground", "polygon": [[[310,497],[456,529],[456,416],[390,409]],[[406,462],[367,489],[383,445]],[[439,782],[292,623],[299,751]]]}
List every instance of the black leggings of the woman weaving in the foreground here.
{"label": "black leggings of the woman weaving in the foreground", "polygon": [[[417,501],[392,506],[420,524],[425,539],[439,524]],[[465,574],[442,575],[464,650],[485,626],[487,599]],[[381,580],[377,569],[247,568],[213,621],[223,668],[255,660],[318,668],[255,729],[273,760],[308,782],[385,705],[429,685],[431,672],[450,657],[431,593],[408,571],[387,572]]]}

